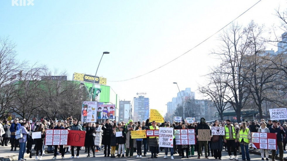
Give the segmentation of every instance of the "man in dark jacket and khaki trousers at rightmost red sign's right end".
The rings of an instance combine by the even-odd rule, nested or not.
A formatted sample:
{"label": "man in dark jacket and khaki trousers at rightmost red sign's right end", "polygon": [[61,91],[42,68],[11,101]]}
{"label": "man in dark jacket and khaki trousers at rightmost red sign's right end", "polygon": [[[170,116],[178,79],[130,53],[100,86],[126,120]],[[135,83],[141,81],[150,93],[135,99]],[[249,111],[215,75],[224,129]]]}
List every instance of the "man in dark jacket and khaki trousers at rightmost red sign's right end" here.
{"label": "man in dark jacket and khaki trousers at rightmost red sign's right end", "polygon": [[[283,127],[279,127],[277,125],[278,121],[273,120],[272,121],[272,126],[269,127],[270,133],[276,133],[276,138],[277,138],[277,146],[279,148],[279,159],[282,161],[283,160],[283,136],[285,136],[285,132],[283,131]],[[272,152],[272,161],[275,161],[275,155],[276,155],[276,150],[271,150]]]}

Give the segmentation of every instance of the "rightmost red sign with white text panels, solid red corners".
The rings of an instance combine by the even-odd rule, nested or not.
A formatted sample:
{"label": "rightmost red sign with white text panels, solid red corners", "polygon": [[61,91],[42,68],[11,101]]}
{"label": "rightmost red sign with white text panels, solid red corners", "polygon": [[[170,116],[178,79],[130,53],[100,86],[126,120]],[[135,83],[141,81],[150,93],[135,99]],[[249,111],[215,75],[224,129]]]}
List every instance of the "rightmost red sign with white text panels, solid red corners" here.
{"label": "rightmost red sign with white text panels, solid red corners", "polygon": [[252,133],[252,147],[277,150],[277,137],[275,133]]}

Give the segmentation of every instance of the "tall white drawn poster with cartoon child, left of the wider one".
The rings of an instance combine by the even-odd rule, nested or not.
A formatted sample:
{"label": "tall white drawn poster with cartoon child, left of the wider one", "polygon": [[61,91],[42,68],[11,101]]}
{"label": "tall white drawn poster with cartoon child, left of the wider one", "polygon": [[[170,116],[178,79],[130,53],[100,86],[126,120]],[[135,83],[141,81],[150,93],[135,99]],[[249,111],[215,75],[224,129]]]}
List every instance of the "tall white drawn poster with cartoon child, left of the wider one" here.
{"label": "tall white drawn poster with cartoon child, left of the wider one", "polygon": [[81,121],[82,122],[97,122],[96,112],[97,112],[98,102],[93,101],[83,101],[81,110]]}

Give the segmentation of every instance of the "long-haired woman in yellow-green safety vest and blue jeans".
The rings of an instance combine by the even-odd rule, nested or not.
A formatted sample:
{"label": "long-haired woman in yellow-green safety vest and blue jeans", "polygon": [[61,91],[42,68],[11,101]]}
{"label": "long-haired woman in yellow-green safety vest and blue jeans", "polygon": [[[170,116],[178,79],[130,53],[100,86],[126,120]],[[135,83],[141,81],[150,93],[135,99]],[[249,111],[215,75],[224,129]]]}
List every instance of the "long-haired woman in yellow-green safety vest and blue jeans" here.
{"label": "long-haired woman in yellow-green safety vest and blue jeans", "polygon": [[251,133],[249,128],[246,127],[246,122],[241,123],[237,138],[241,147],[242,160],[250,160],[248,145],[251,142]]}

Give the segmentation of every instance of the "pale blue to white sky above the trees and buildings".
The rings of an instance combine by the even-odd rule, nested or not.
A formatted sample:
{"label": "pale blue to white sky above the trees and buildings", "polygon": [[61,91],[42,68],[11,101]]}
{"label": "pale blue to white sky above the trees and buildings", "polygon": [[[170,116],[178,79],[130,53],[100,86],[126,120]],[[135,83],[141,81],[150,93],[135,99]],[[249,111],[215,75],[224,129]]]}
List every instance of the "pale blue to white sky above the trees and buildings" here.
{"label": "pale blue to white sky above the trees and buildings", "polygon": [[[94,75],[102,52],[98,76],[121,100],[146,92],[150,107],[164,113],[166,103],[180,89],[197,90],[209,67],[218,63],[209,55],[219,46],[213,36],[191,52],[145,76],[188,51],[243,13],[257,1],[74,1],[34,0],[34,6],[12,6],[0,0],[0,36],[17,44],[19,60],[46,64],[50,70]],[[236,22],[252,19],[271,27],[279,20],[275,9],[285,0],[262,0]],[[278,31],[281,34],[282,31]],[[267,49],[271,49],[269,47]],[[274,47],[273,47],[274,48]],[[203,98],[196,93],[196,98]]]}

